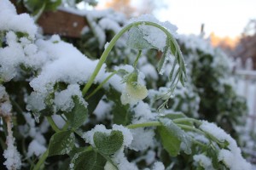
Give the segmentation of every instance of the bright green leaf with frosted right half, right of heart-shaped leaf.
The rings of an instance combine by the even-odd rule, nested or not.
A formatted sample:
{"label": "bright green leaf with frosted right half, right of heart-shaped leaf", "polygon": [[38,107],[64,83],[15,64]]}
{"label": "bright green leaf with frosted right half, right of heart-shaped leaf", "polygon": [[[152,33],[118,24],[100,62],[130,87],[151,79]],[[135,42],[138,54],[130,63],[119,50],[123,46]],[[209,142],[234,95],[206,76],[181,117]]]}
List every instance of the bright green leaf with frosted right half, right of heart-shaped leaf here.
{"label": "bright green leaf with frosted right half, right of heart-shaped leaf", "polygon": [[186,154],[191,154],[191,139],[172,120],[160,119],[163,126],[158,127],[164,148],[171,156],[177,156],[180,149]]}

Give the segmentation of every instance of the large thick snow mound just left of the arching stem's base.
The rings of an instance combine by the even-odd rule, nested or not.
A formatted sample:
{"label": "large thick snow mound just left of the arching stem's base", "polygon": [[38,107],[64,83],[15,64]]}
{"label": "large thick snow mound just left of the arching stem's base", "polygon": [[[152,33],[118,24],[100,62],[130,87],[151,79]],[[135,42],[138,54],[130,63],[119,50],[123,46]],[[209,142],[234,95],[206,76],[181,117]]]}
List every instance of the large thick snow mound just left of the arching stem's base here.
{"label": "large thick snow mound just left of the arching stem's base", "polygon": [[[45,93],[53,90],[55,82],[84,83],[94,71],[97,60],[92,61],[67,42],[40,41],[38,46],[54,60],[44,65],[41,74],[30,85],[35,91]],[[100,79],[104,66],[96,77]]]}

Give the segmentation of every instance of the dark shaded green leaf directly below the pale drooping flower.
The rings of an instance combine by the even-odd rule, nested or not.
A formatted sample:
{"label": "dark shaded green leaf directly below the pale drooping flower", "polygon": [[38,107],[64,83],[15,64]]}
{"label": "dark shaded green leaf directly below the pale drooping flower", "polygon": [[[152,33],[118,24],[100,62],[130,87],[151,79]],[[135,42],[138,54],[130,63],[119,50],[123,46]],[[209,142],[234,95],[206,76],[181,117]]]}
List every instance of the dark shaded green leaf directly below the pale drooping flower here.
{"label": "dark shaded green leaf directly below the pale drooping flower", "polygon": [[113,105],[113,123],[118,125],[128,125],[131,124],[132,112],[129,105],[122,105],[120,101],[121,94],[114,88],[110,87],[107,92],[108,99],[114,102]]}

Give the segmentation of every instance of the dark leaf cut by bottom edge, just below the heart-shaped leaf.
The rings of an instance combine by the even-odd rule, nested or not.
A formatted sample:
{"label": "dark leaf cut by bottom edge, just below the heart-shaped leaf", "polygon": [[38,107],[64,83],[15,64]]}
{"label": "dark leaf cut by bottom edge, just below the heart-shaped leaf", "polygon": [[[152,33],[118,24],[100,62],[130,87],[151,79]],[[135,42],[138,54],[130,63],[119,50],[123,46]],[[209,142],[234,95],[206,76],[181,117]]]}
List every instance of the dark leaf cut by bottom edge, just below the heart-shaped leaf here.
{"label": "dark leaf cut by bottom edge, just below the heart-shaped leaf", "polygon": [[94,150],[85,151],[73,156],[69,167],[73,170],[103,170],[107,160]]}

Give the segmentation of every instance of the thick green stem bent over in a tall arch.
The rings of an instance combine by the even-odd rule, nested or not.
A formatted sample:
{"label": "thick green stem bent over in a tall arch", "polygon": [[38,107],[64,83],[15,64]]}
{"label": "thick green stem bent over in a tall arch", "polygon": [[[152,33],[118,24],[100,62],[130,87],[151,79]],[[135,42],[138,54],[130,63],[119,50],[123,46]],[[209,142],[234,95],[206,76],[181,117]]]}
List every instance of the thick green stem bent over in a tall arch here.
{"label": "thick green stem bent over in a tall arch", "polygon": [[[85,95],[87,93],[87,91],[89,90],[90,86],[92,85],[92,83],[94,82],[97,74],[99,73],[99,71],[101,70],[102,68],[102,65],[104,64],[104,62],[106,61],[107,57],[108,57],[108,54],[110,53],[111,49],[113,48],[115,42],[118,41],[119,37],[121,37],[123,34],[125,34],[126,31],[130,30],[131,27],[133,26],[139,26],[139,25],[147,25],[147,26],[154,26],[154,27],[157,27],[159,28],[161,31],[164,31],[166,33],[166,36],[169,37],[172,42],[175,44],[175,46],[177,46],[177,49],[178,48],[178,45],[177,45],[177,42],[173,39],[172,37],[172,34],[166,30],[165,27],[163,26],[160,26],[159,24],[156,24],[154,22],[150,22],[150,21],[138,21],[138,22],[134,22],[134,23],[131,23],[130,25],[127,25],[125,26],[121,31],[119,31],[118,34],[116,34],[113,39],[109,42],[108,44],[108,47],[105,49],[105,51],[103,52],[101,58],[99,59],[99,62],[98,64],[96,65],[96,68],[95,70],[93,71],[90,79],[88,80],[88,82],[86,83],[86,85],[84,86],[83,88],[83,91],[82,91],[82,94]],[[177,50],[180,54],[180,56],[182,56],[180,50]],[[182,59],[181,59],[182,60]]]}

